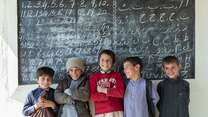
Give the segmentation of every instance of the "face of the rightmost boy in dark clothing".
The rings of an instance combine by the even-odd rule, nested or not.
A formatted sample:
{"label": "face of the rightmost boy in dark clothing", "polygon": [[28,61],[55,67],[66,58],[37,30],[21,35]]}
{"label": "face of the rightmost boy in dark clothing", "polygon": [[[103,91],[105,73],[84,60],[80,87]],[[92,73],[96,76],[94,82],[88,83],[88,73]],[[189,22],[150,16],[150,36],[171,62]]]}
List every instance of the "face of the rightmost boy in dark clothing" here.
{"label": "face of the rightmost boy in dark clothing", "polygon": [[171,79],[177,79],[181,66],[176,63],[165,63],[163,69],[165,74]]}

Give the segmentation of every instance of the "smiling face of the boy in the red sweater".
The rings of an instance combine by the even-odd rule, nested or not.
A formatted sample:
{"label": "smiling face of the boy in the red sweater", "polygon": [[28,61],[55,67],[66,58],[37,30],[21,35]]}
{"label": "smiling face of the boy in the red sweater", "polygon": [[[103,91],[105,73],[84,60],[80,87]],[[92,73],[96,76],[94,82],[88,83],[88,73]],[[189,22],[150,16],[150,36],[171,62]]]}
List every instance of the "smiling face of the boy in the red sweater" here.
{"label": "smiling face of the boy in the red sweater", "polygon": [[113,66],[113,60],[112,60],[111,56],[109,56],[107,54],[102,54],[100,56],[99,65],[103,71],[110,70]]}

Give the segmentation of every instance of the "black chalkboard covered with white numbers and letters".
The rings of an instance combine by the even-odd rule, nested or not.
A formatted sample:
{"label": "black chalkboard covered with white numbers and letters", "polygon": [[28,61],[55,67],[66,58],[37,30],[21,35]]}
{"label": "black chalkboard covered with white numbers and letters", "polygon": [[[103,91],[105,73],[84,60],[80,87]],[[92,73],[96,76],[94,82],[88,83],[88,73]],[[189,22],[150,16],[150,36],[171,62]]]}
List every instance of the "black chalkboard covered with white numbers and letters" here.
{"label": "black chalkboard covered with white numbers and letters", "polygon": [[52,67],[57,82],[69,57],[86,59],[87,71],[95,71],[102,49],[116,53],[118,66],[141,57],[147,79],[161,79],[162,58],[175,55],[183,78],[194,78],[195,1],[18,0],[20,85],[35,83],[41,66]]}

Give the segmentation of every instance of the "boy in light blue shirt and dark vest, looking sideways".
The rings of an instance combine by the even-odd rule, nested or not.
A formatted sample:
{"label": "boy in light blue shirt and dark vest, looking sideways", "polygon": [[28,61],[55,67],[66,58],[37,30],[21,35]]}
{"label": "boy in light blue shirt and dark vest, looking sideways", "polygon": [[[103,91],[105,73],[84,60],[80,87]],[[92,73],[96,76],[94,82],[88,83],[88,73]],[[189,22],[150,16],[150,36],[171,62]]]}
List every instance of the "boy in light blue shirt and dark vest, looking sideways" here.
{"label": "boy in light blue shirt and dark vest, looking sideways", "polygon": [[128,57],[123,67],[129,79],[124,96],[124,117],[155,117],[159,97],[152,82],[141,76],[142,60]]}

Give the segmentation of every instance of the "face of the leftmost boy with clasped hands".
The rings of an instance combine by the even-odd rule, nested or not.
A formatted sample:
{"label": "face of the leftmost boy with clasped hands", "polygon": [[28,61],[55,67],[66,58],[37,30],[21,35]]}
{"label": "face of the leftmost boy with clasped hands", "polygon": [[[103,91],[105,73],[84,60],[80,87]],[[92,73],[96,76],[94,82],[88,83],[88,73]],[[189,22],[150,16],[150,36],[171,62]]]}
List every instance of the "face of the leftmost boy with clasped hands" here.
{"label": "face of the leftmost boy with clasped hands", "polygon": [[38,77],[37,83],[39,84],[40,88],[47,89],[52,84],[52,77],[47,74],[43,74]]}

